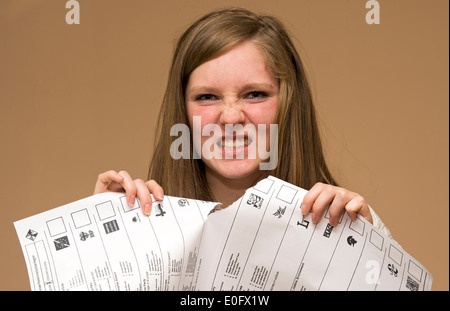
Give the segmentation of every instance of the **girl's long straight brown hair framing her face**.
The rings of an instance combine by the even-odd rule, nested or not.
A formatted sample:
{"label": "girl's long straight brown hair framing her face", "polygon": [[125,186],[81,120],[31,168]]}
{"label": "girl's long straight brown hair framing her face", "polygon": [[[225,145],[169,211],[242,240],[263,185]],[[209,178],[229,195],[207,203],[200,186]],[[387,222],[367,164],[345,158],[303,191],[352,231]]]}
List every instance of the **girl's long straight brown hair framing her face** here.
{"label": "girl's long straight brown hair framing her face", "polygon": [[285,27],[272,16],[227,8],[194,22],[179,38],[173,55],[148,174],[166,194],[214,200],[204,163],[193,158],[192,144],[189,159],[176,160],[170,156],[170,146],[176,139],[170,136],[170,128],[180,123],[189,125],[184,95],[195,68],[247,40],[261,48],[280,83],[278,165],[269,173],[306,189],[319,181],[336,184],[324,159],[305,69]]}

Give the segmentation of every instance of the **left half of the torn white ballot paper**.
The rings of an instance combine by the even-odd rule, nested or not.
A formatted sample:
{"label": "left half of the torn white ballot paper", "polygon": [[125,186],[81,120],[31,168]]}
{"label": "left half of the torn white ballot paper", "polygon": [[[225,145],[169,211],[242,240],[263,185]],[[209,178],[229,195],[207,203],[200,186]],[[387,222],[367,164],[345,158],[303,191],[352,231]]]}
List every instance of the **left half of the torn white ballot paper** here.
{"label": "left half of the torn white ballot paper", "polygon": [[216,205],[102,193],[16,222],[32,290],[187,290],[203,223]]}

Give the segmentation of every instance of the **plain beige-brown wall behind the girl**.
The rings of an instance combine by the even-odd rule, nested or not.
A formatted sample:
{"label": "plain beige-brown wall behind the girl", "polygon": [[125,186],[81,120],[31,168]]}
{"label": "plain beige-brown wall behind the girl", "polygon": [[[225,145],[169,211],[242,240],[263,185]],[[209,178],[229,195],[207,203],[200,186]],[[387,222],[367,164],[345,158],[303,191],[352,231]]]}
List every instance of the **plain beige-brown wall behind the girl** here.
{"label": "plain beige-brown wall behind the girl", "polygon": [[449,287],[447,0],[0,0],[0,289],[29,290],[13,221],[145,178],[174,40],[237,5],[280,17],[310,73],[332,171]]}

